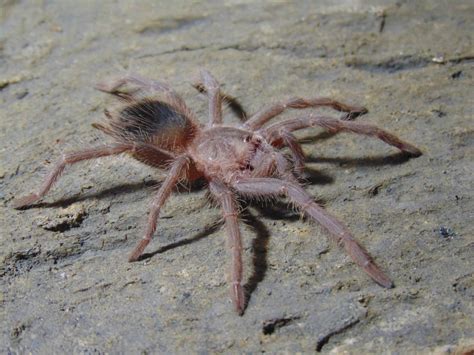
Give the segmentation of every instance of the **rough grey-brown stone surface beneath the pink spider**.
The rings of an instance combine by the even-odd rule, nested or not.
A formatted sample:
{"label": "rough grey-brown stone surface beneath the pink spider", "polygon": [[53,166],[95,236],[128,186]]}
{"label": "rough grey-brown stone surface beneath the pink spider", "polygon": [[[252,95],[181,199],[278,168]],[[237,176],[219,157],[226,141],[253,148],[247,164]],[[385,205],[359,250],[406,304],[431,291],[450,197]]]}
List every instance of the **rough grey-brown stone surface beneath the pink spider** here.
{"label": "rough grey-brown stone surface beneath the pink spider", "polygon": [[[452,352],[474,344],[472,1],[0,2],[2,353]],[[250,301],[231,306],[220,212],[178,191],[149,258],[128,263],[164,173],[128,158],[67,169],[24,211],[48,161],[94,144],[102,79],[211,70],[249,112],[331,96],[415,143],[302,132],[308,191],[396,287],[372,282],[284,204],[250,207]],[[330,112],[338,116],[336,112]],[[291,116],[289,112],[285,116]],[[228,114],[226,119],[232,120]],[[235,121],[235,120],[234,120]]]}

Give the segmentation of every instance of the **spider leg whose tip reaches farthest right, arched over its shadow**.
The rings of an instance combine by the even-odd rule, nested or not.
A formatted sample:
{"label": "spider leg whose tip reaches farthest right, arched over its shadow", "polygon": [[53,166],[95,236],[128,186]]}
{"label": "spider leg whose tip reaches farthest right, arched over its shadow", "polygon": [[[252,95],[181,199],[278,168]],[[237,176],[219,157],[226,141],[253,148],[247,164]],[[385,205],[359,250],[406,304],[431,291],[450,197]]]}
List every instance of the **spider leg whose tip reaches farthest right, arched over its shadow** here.
{"label": "spider leg whose tip reaches farthest right, arched over its shadow", "polygon": [[281,122],[274,123],[261,130],[261,133],[272,142],[281,136],[282,132],[293,132],[299,129],[320,126],[330,132],[352,132],[366,136],[376,137],[385,143],[397,147],[401,151],[407,152],[413,156],[420,156],[422,152],[414,145],[407,143],[392,133],[389,133],[377,126],[352,121],[342,121],[339,119],[323,116],[302,116]]}

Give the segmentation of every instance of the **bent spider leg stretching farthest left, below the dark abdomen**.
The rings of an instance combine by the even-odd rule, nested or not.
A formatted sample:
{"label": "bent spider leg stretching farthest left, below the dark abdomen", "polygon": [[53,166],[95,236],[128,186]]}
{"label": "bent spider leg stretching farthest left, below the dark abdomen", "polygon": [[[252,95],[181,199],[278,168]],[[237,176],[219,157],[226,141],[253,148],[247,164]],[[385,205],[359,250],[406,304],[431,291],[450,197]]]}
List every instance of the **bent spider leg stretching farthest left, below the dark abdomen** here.
{"label": "bent spider leg stretching farthest left, below the dark abdomen", "polygon": [[44,195],[46,195],[46,193],[48,193],[54,183],[58,180],[59,176],[64,171],[66,165],[75,164],[83,160],[96,159],[109,155],[117,155],[127,151],[133,151],[134,149],[135,145],[131,143],[118,143],[109,146],[90,148],[78,152],[65,154],[54,165],[54,168],[46,177],[39,191],[15,200],[13,202],[13,207],[23,208],[41,199]]}

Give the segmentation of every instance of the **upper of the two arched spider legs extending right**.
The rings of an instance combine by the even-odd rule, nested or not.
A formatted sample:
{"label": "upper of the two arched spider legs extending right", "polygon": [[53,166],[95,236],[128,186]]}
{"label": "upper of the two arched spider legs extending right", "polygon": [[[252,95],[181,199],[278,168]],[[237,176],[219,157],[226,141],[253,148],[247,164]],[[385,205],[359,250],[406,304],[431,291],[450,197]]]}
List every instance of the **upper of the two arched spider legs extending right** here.
{"label": "upper of the two arched spider legs extending right", "polygon": [[347,112],[344,119],[353,119],[368,112],[365,107],[350,106],[326,97],[316,97],[311,99],[293,98],[264,107],[254,115],[250,116],[243,126],[246,129],[256,130],[288,108],[304,109],[309,107],[332,107],[337,111]]}

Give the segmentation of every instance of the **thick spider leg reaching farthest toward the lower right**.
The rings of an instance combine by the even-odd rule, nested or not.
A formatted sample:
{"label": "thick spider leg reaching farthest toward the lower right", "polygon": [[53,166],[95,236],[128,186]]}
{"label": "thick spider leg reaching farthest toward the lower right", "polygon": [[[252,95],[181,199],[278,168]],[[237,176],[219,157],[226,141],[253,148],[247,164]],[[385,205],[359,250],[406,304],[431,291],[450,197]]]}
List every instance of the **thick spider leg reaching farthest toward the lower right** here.
{"label": "thick spider leg reaching farthest toward the lower right", "polygon": [[285,195],[292,203],[318,222],[330,236],[344,247],[352,260],[379,285],[391,288],[392,281],[372,261],[367,251],[354,239],[349,230],[335,217],[313,201],[298,184],[274,178],[241,179],[233,184],[234,189],[247,196]]}

